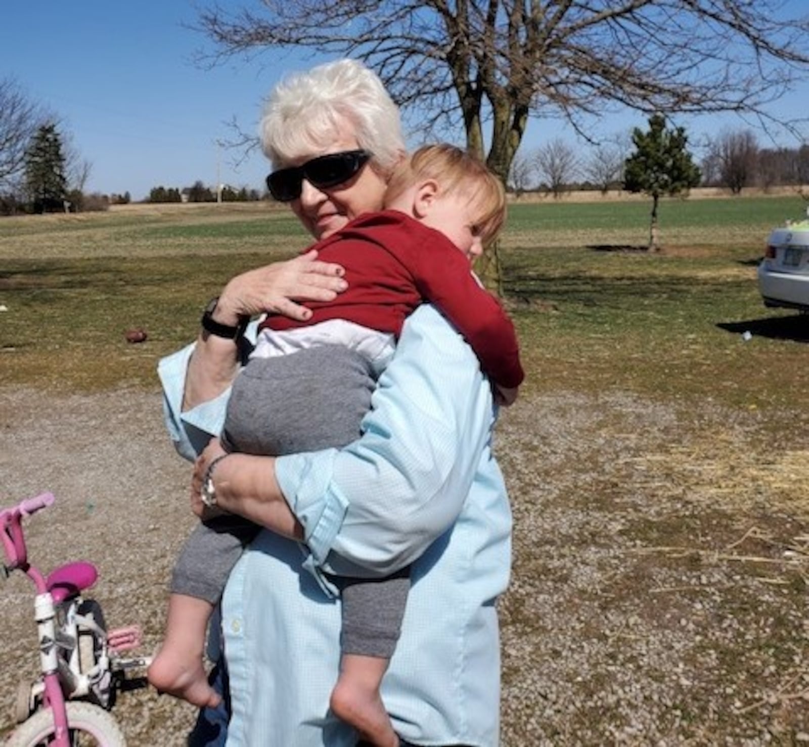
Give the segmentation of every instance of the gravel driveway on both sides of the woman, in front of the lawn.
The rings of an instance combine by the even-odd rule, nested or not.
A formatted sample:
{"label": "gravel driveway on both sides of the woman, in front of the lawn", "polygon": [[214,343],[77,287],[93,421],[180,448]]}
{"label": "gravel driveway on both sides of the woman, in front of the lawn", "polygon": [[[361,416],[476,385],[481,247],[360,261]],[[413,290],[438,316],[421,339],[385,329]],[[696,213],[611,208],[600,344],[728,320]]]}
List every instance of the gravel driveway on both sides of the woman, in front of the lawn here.
{"label": "gravel driveway on both sides of the woman, in front of the lawn", "polygon": [[[769,453],[755,415],[623,395],[523,399],[498,429],[515,507],[502,600],[502,744],[809,741],[805,450]],[[0,389],[3,503],[43,490],[46,568],[87,557],[108,621],[159,642],[168,570],[193,524],[159,397]],[[798,508],[796,508],[796,506]],[[23,578],[2,589],[0,732],[36,656]],[[13,645],[20,641],[19,646]],[[130,745],[181,745],[193,709],[149,689]]]}

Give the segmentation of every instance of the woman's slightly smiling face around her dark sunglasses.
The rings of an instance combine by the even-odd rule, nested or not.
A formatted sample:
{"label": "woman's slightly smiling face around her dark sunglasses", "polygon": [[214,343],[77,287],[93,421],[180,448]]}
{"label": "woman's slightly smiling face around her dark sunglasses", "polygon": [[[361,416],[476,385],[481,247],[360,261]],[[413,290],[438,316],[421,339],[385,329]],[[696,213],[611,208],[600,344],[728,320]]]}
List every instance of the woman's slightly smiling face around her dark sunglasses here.
{"label": "woman's slightly smiling face around her dark sunglasses", "polygon": [[[354,151],[358,147],[354,136],[342,135],[328,146],[313,150],[284,166],[299,166],[316,156]],[[324,239],[362,213],[381,210],[385,187],[386,180],[369,162],[349,181],[336,187],[319,190],[304,179],[301,196],[290,205],[303,227],[316,239]]]}

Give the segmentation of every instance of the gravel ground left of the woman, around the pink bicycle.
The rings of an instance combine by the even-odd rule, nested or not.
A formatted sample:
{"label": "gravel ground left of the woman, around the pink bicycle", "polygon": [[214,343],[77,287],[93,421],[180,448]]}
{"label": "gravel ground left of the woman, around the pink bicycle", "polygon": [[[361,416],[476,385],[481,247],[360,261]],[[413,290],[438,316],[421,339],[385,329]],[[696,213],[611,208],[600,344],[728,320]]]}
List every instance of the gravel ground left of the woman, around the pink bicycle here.
{"label": "gravel ground left of the woman, around the pink bicycle", "polygon": [[[167,578],[193,525],[186,489],[188,463],[163,428],[156,394],[44,397],[0,390],[2,502],[49,490],[57,502],[28,523],[29,555],[50,570],[91,560],[108,625],[137,622],[143,650],[159,644]],[[38,665],[32,596],[15,574],[2,588],[0,733],[11,725],[17,682]],[[116,715],[131,747],[183,745],[194,711],[154,690],[121,695]]]}

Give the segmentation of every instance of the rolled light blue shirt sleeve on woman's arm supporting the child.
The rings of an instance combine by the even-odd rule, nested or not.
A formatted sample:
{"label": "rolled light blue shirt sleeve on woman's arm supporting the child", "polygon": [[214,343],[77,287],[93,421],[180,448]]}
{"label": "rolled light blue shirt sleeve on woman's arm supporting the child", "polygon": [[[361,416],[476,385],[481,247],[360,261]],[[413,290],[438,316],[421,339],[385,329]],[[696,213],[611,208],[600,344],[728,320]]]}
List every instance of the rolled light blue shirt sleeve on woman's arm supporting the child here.
{"label": "rolled light blue shirt sleeve on woman's arm supporting the child", "polygon": [[488,382],[432,307],[405,323],[372,401],[357,442],[279,457],[273,472],[316,563],[338,575],[386,575],[421,555],[490,460]]}

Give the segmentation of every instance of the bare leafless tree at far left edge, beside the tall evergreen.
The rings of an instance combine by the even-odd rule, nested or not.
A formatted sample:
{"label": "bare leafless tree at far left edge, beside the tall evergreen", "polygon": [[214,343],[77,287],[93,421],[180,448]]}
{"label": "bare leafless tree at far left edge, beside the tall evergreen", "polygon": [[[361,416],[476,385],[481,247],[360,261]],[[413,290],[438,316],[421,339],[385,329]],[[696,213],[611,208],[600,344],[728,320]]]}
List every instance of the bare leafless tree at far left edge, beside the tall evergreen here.
{"label": "bare leafless tree at far left edge, beside the tall evergreen", "polygon": [[48,118],[15,79],[0,79],[0,188],[18,181],[28,143]]}

